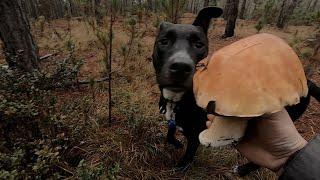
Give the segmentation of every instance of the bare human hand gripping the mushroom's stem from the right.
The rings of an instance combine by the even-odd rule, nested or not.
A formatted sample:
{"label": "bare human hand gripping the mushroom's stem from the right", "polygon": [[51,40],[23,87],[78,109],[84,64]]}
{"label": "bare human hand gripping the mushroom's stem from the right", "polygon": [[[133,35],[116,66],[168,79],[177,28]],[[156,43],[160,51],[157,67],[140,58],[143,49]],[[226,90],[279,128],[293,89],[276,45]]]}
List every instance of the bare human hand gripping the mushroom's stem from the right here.
{"label": "bare human hand gripping the mushroom's stem from the right", "polygon": [[249,120],[245,136],[236,148],[251,162],[278,171],[306,144],[287,111],[282,110]]}

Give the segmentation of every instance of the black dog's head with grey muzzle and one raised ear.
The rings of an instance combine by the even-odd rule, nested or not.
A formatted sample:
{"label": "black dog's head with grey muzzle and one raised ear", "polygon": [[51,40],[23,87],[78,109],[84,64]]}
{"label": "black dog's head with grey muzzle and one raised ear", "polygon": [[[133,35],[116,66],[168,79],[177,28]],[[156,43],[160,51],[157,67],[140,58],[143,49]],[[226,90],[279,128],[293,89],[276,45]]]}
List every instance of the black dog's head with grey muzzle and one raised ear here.
{"label": "black dog's head with grey muzzle and one raised ear", "polygon": [[192,87],[195,66],[208,55],[210,20],[222,12],[218,7],[207,7],[199,12],[192,25],[161,23],[153,50],[160,88],[182,92]]}

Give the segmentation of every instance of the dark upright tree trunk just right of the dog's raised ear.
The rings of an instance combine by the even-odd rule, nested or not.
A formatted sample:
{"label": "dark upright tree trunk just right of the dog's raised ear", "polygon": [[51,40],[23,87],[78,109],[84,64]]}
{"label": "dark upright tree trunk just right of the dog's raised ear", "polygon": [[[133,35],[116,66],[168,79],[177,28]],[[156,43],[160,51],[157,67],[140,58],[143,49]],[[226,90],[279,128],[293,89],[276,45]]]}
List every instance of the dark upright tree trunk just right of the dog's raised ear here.
{"label": "dark upright tree trunk just right of the dog's raised ear", "polygon": [[223,37],[232,37],[234,35],[234,28],[238,16],[239,0],[227,0],[227,24]]}

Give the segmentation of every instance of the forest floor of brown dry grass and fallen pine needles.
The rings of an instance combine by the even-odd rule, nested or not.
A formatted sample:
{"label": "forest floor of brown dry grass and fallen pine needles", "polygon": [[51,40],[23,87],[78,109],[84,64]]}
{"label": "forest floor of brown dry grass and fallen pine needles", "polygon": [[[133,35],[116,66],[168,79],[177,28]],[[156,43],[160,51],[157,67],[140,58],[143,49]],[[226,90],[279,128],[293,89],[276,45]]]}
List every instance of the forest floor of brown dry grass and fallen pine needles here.
{"label": "forest floor of brown dry grass and fallen pine needles", "polygon": [[[191,23],[194,15],[185,14],[183,23]],[[72,129],[72,135],[81,139],[80,144],[67,152],[71,157],[84,159],[89,172],[96,172],[100,165],[108,177],[118,179],[241,179],[232,173],[234,166],[246,162],[231,148],[209,149],[200,147],[194,165],[186,172],[172,170],[183,155],[183,149],[176,150],[165,142],[166,121],[159,114],[158,90],[152,62],[150,60],[156,28],[154,18],[136,25],[141,38],[134,40],[131,54],[124,58],[121,47],[128,47],[129,32],[125,21],[118,18],[114,24],[112,104],[113,123],[108,124],[108,86],[107,82],[94,86],[54,91],[58,99],[56,108],[60,120]],[[209,30],[210,53],[241,38],[256,34],[256,22],[238,20],[236,36],[221,39],[225,23],[222,19],[213,22]],[[104,49],[98,41],[93,28],[85,21],[70,22],[71,40],[75,42],[75,56],[82,59],[79,79],[98,79],[106,74],[103,61]],[[43,35],[35,23],[33,34],[41,56],[57,53],[41,62],[45,71],[51,71],[68,56],[68,22],[56,20],[45,25]],[[289,26],[279,30],[273,26],[264,27],[261,32],[275,34],[289,44],[303,45],[305,39],[312,37],[312,26]],[[301,45],[302,44],[302,45]],[[310,64],[302,60],[305,67]],[[3,54],[0,65],[5,64]],[[312,67],[309,78],[320,85],[319,66]],[[316,70],[315,70],[316,69]],[[303,117],[296,123],[299,132],[310,140],[320,133],[320,104],[313,98]],[[183,136],[179,139],[185,141]],[[69,176],[77,177],[76,166],[64,167]],[[261,169],[243,179],[275,179],[271,171]]]}

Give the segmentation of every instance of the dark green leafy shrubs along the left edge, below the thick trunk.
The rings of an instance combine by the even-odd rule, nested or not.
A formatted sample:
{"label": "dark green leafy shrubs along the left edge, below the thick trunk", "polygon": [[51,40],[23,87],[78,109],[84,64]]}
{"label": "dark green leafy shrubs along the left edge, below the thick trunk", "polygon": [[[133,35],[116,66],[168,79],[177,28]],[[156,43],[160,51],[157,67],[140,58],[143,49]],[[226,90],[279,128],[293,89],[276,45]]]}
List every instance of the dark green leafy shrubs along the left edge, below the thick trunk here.
{"label": "dark green leafy shrubs along the left edge, below the thick trunk", "polygon": [[[72,43],[67,44],[73,51]],[[76,84],[82,61],[72,54],[51,73],[0,68],[0,179],[70,175],[59,167],[68,159],[63,152],[71,140],[78,143],[60,123],[52,89]]]}

